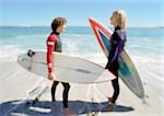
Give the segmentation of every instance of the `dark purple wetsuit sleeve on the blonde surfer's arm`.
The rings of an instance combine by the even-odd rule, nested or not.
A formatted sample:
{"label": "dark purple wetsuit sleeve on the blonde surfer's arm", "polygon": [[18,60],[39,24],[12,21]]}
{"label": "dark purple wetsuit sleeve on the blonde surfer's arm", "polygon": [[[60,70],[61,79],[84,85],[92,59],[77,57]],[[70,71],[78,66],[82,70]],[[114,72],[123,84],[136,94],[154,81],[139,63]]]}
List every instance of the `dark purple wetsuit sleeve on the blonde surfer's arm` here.
{"label": "dark purple wetsuit sleeve on the blonde surfer's arm", "polygon": [[117,33],[114,34],[114,46],[113,48],[110,49],[110,53],[109,53],[109,57],[108,57],[108,61],[110,63],[113,63],[117,58],[118,56],[120,55],[122,48],[124,48],[124,35],[118,35]]}

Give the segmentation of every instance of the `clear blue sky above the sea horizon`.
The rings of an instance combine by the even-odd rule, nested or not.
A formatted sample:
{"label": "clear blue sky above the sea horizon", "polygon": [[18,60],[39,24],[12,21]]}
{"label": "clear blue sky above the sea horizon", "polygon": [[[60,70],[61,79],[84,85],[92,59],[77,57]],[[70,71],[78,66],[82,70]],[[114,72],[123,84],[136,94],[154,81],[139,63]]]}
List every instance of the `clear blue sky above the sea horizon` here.
{"label": "clear blue sky above the sea horizon", "polygon": [[0,0],[0,26],[49,26],[65,16],[70,26],[89,26],[89,18],[109,24],[124,9],[129,27],[164,26],[163,0]]}

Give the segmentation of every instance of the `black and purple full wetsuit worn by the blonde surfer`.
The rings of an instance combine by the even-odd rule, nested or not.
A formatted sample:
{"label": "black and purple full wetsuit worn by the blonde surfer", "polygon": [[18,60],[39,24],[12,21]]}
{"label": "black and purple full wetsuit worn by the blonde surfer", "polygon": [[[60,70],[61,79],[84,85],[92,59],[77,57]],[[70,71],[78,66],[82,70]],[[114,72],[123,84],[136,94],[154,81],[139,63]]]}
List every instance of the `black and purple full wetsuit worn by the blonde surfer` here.
{"label": "black and purple full wetsuit worn by the blonde surfer", "polygon": [[110,39],[110,50],[108,56],[108,62],[106,65],[106,69],[113,72],[116,76],[116,79],[112,80],[114,86],[114,94],[112,97],[112,103],[115,103],[119,95],[119,83],[118,83],[118,69],[119,62],[118,57],[121,54],[125,43],[126,43],[126,32],[120,30],[120,27],[115,27],[115,32],[112,35]]}

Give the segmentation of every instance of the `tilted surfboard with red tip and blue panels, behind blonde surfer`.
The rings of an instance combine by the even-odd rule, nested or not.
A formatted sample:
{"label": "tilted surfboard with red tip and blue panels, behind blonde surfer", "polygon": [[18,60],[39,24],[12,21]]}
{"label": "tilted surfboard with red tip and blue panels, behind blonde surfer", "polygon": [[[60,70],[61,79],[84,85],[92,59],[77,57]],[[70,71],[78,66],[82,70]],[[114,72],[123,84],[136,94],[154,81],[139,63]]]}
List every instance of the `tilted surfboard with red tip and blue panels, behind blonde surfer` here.
{"label": "tilted surfboard with red tip and blue panels, behind blonde surfer", "polygon": [[[103,53],[107,58],[110,48],[109,39],[113,32],[93,18],[89,18],[89,22]],[[119,57],[119,77],[132,93],[134,93],[138,97],[143,98],[144,89],[142,85],[142,81],[137,71],[137,68],[134,67],[131,58],[125,49]]]}

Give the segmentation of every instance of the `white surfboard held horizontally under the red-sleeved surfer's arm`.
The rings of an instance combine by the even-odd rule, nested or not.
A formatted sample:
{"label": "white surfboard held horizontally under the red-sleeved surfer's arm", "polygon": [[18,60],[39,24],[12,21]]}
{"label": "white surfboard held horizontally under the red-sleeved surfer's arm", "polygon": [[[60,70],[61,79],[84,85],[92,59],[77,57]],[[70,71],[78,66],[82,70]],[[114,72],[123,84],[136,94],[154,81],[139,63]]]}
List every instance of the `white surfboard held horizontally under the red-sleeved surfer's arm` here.
{"label": "white surfboard held horizontally under the red-sleeved surfer's arm", "polygon": [[[46,51],[35,51],[33,57],[22,54],[17,62],[31,72],[45,78],[48,76]],[[61,53],[54,53],[54,70],[56,80],[61,82],[98,83],[115,79],[99,65]]]}

